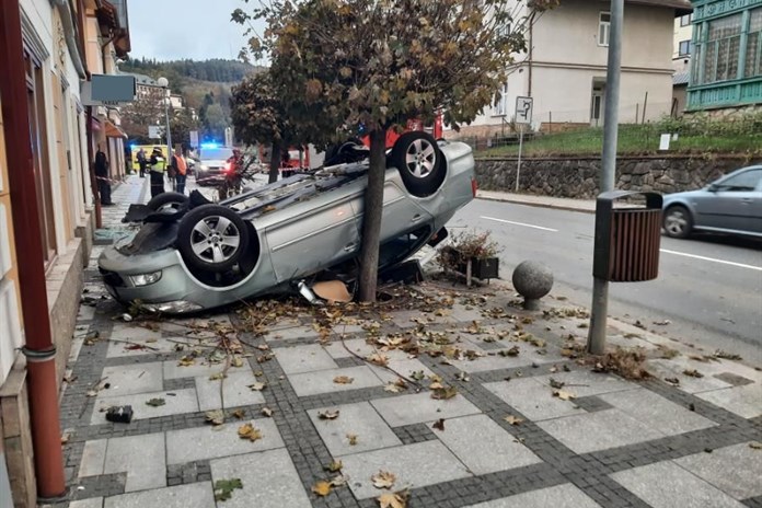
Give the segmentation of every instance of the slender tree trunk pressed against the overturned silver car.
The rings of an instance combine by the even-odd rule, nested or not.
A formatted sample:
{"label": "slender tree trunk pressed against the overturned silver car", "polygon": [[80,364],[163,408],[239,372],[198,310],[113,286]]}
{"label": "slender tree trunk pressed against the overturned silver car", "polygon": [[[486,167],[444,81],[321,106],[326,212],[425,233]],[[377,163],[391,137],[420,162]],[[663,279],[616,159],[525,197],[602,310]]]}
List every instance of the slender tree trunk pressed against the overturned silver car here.
{"label": "slender tree trunk pressed against the overturned silver car", "polygon": [[370,168],[362,215],[362,250],[360,253],[360,301],[376,301],[379,274],[379,244],[383,212],[383,183],[386,173],[386,132],[377,127],[370,132]]}

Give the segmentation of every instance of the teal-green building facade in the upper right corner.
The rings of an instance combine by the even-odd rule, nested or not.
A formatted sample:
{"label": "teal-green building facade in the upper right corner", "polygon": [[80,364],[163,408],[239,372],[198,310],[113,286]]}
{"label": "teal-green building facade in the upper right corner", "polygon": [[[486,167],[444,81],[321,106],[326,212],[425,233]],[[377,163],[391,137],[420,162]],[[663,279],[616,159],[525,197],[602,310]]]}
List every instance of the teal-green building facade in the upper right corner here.
{"label": "teal-green building facade in the upper right corner", "polygon": [[692,0],[688,109],[762,104],[762,0]]}

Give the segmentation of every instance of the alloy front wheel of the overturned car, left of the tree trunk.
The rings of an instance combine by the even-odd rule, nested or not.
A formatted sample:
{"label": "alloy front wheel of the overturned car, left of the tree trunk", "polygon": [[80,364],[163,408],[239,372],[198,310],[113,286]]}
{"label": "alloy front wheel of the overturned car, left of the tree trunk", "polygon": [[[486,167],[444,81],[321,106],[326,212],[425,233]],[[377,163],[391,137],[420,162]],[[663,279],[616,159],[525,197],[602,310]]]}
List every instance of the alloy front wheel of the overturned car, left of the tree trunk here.
{"label": "alloy front wheel of the overturned car, left of the tree trunk", "polygon": [[230,208],[204,205],[180,221],[177,249],[193,267],[227,272],[235,266],[247,246],[246,222]]}

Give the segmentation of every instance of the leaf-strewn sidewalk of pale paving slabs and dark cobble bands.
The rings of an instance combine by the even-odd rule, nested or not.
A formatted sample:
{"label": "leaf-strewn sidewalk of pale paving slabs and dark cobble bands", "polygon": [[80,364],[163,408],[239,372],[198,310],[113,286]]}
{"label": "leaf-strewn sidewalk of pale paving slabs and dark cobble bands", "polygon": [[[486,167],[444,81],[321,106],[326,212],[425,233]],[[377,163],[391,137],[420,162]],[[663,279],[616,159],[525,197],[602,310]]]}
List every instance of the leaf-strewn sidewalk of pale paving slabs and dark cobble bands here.
{"label": "leaf-strewn sidewalk of pale paving slabs and dark cobble bands", "polygon": [[[145,199],[136,180],[114,192],[124,209],[109,213],[112,224],[129,199]],[[390,308],[372,320],[348,309],[327,339],[298,309],[264,334],[234,309],[125,322],[100,281],[102,249],[86,270],[92,298],[61,402],[71,501],[57,506],[374,507],[402,489],[408,507],[762,506],[762,371],[741,362],[614,323],[612,346],[649,353],[654,377],[593,372],[569,349],[586,335],[584,312],[554,299],[527,312],[500,285],[461,289],[428,312]],[[423,292],[452,295],[442,282]],[[230,330],[244,346],[233,356],[240,367],[208,354]],[[394,348],[416,335],[461,353]],[[392,346],[380,351],[384,337]],[[201,354],[190,361],[194,349]],[[362,359],[373,354],[396,373]],[[425,388],[392,391],[397,373]],[[457,394],[432,399],[434,376]],[[551,382],[575,399],[554,396]],[[124,404],[132,423],[107,423],[102,411]],[[206,423],[213,409],[223,409],[223,425]],[[259,439],[239,437],[247,423]],[[325,470],[333,461],[347,483],[319,496],[313,486],[336,476]],[[395,475],[391,490],[373,486],[379,471]],[[231,478],[242,488],[216,501],[215,482]]]}

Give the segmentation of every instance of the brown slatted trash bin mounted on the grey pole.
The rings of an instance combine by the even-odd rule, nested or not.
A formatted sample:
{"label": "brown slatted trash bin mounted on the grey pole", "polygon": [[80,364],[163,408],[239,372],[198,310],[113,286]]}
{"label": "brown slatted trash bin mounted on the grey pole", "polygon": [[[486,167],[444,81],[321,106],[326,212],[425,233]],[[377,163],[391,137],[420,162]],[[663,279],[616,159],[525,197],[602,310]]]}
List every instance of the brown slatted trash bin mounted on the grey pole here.
{"label": "brown slatted trash bin mounted on the grey pole", "polygon": [[[645,207],[614,208],[614,200],[642,195]],[[653,280],[659,275],[661,204],[657,193],[611,190],[598,196],[592,275],[613,282]]]}

